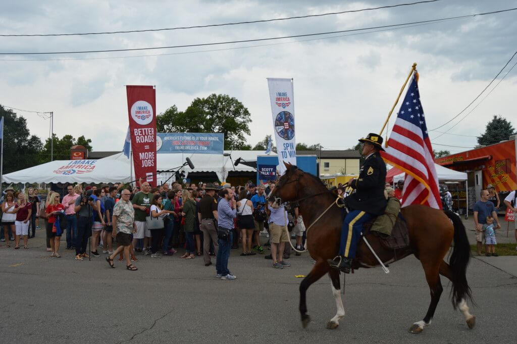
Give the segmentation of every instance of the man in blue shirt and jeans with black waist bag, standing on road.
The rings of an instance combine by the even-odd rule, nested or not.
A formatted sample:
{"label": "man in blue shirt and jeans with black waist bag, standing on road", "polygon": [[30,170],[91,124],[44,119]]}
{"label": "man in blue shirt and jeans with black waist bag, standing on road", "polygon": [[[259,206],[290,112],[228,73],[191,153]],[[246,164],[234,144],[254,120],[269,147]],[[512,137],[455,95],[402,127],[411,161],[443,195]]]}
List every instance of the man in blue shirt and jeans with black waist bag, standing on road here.
{"label": "man in blue shirt and jeans with black waist bag, standing on road", "polygon": [[217,278],[220,279],[236,279],[237,276],[230,274],[228,270],[228,259],[232,250],[233,242],[233,220],[237,217],[236,203],[232,199],[233,192],[229,188],[224,188],[219,192],[221,200],[217,205],[218,229],[217,242],[219,250],[216,259]]}

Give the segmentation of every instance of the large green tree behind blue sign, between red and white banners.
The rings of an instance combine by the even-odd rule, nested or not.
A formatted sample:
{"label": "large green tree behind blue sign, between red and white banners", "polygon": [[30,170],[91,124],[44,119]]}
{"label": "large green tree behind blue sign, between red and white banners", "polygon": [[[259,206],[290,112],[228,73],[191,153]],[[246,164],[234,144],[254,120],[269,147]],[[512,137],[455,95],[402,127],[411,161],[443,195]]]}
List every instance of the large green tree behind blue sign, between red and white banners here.
{"label": "large green tree behind blue sign, between red and white banners", "polygon": [[195,98],[183,112],[172,106],[157,116],[157,129],[164,132],[222,132],[224,149],[246,146],[245,134],[250,134],[251,115],[236,98],[211,94]]}

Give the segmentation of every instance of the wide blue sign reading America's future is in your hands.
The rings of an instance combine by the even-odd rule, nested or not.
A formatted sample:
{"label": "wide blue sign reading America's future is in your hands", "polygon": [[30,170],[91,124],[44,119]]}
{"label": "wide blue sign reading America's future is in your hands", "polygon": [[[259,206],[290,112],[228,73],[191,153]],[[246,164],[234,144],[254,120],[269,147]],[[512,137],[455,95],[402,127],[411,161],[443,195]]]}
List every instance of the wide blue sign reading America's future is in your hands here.
{"label": "wide blue sign reading America's future is in your hands", "polygon": [[224,133],[158,132],[156,152],[223,154]]}

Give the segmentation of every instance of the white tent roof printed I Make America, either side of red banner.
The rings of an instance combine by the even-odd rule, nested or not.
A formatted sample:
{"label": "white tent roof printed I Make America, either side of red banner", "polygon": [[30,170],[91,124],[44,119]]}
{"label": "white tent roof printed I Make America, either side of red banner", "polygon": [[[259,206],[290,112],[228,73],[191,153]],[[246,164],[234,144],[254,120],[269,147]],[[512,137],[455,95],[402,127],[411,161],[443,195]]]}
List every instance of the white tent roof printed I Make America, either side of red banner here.
{"label": "white tent roof printed I Make America, either side of red banner", "polygon": [[[166,171],[181,167],[188,157],[194,169],[185,166],[181,170],[190,172],[215,172],[222,182],[229,171],[255,172],[244,164],[234,166],[236,159],[256,161],[263,151],[224,151],[221,154],[157,154],[157,170]],[[232,162],[233,161],[233,162]],[[98,160],[56,160],[43,163],[25,170],[5,174],[4,183],[116,183],[130,182],[134,179],[134,169],[130,159],[118,153]],[[170,173],[158,174],[158,181],[166,180]]]}

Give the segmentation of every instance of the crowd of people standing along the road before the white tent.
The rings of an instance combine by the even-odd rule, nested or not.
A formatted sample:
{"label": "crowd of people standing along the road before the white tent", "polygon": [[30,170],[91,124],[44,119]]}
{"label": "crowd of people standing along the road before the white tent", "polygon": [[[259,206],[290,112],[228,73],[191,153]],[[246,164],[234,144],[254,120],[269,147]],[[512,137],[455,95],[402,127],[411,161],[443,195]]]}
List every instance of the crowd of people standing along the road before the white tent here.
{"label": "crowd of people standing along the road before the white tent", "polygon": [[[38,189],[28,188],[25,193],[8,188],[2,202],[2,240],[6,247],[14,241],[18,249],[23,239],[28,249],[28,239],[35,236],[38,222],[44,221],[47,251],[54,258],[61,257],[64,234],[65,249],[75,250],[75,260],[105,255],[115,267],[118,256],[130,271],[138,270],[133,263],[142,259],[139,255],[160,259],[181,248],[180,258],[202,257],[205,266],[215,263],[216,277],[232,280],[236,276],[228,261],[239,244],[240,256],[262,254],[278,269],[291,265],[286,261],[291,255],[291,245],[286,245],[290,232],[294,231],[296,249],[302,250],[305,227],[298,208],[268,204],[267,195],[274,188],[274,181],[258,186],[250,181],[237,188],[228,183],[174,182],[158,188],[147,182],[134,188],[116,183],[84,189],[69,184],[63,197],[53,191],[44,200]],[[267,246],[270,255],[265,255]]]}

